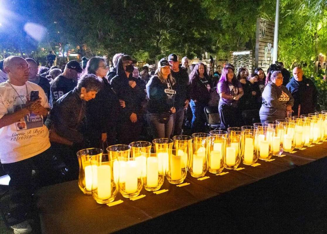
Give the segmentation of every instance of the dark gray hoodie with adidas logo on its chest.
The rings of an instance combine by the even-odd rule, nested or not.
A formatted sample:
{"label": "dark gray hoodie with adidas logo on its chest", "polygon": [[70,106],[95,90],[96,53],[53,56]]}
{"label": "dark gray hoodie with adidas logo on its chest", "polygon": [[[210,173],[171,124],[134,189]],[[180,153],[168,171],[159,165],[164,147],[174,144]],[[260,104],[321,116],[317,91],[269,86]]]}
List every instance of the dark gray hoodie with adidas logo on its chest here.
{"label": "dark gray hoodie with adidas logo on its chest", "polygon": [[275,121],[284,119],[286,115],[286,106],[293,106],[294,99],[288,89],[282,85],[278,87],[269,82],[262,92],[262,106],[260,108],[260,120]]}

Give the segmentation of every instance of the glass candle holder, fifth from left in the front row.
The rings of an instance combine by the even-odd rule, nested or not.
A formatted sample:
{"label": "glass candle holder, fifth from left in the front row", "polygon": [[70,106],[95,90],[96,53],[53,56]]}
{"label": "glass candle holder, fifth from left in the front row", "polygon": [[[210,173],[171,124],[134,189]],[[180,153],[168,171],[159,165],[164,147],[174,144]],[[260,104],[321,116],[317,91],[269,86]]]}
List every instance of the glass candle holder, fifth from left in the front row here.
{"label": "glass candle holder, fifth from left in the front row", "polygon": [[208,140],[204,138],[194,138],[190,141],[190,163],[189,172],[191,176],[199,178],[208,171],[207,163]]}

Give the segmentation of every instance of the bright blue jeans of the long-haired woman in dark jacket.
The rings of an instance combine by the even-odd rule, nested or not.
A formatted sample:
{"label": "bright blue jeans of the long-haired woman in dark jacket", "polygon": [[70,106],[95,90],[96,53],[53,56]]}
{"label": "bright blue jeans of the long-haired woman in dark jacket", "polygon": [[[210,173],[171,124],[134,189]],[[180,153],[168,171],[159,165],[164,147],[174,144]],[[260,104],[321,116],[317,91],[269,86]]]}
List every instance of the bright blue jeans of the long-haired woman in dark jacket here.
{"label": "bright blue jeans of the long-haired woman in dark jacket", "polygon": [[190,107],[193,114],[191,123],[192,133],[205,131],[205,122],[207,121],[204,113],[205,106],[205,104],[194,102],[193,100],[190,102]]}

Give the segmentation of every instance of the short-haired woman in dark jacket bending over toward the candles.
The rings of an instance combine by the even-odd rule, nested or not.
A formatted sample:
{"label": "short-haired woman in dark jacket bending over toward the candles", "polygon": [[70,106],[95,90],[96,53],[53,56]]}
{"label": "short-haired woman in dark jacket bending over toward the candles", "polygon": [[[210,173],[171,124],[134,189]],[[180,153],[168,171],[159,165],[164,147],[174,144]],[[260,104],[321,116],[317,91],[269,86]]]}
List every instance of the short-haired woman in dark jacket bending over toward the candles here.
{"label": "short-haired woman in dark jacket bending over toward the candles", "polygon": [[95,98],[102,88],[102,81],[93,74],[83,75],[77,87],[61,96],[53,106],[45,125],[51,134],[62,138],[62,143],[51,142],[51,146],[66,164],[68,180],[78,178],[76,152],[85,147],[86,102]]}

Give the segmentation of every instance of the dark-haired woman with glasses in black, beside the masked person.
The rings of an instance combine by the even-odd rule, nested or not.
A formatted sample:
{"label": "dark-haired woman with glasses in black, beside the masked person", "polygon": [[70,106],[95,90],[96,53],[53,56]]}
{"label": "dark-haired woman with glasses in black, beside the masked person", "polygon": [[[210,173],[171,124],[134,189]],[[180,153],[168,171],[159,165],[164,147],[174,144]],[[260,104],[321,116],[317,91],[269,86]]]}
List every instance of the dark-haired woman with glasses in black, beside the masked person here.
{"label": "dark-haired woman with glasses in black, beside the masked person", "polygon": [[[105,78],[109,68],[106,60],[101,57],[91,58],[82,75],[94,74],[102,79],[103,88],[97,93],[95,99],[86,103],[87,132],[90,147],[99,148],[102,142],[115,143],[115,126],[119,100],[110,89],[108,80]],[[124,103],[122,103],[124,106]]]}

